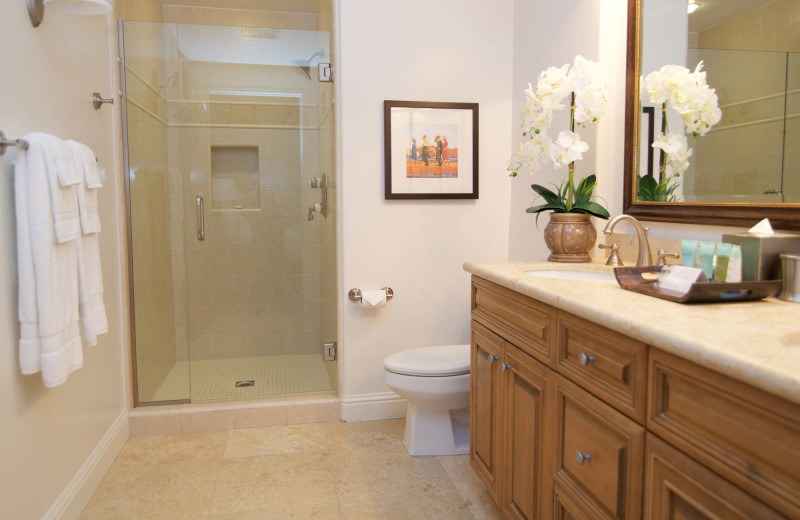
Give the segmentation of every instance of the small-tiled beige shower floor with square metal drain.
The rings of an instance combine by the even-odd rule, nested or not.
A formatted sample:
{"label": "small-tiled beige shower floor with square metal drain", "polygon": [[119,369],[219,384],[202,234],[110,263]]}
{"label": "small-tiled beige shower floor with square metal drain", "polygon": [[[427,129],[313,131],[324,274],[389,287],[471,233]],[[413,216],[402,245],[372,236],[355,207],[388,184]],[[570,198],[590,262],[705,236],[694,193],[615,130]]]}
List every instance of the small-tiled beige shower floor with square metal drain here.
{"label": "small-tiled beige shower floor with square metal drain", "polygon": [[[156,391],[154,401],[234,399],[335,390],[331,361],[319,354],[178,361]],[[237,381],[254,382],[236,387]]]}

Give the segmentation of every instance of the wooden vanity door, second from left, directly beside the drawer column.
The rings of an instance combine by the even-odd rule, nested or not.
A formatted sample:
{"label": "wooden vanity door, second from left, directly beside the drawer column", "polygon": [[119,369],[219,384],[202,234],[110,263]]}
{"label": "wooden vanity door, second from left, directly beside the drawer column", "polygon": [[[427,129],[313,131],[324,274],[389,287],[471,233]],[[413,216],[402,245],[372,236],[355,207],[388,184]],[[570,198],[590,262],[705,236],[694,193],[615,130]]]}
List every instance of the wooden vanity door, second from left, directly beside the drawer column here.
{"label": "wooden vanity door, second from left, directly beside the drawer column", "polygon": [[505,398],[505,457],[502,509],[506,518],[547,518],[552,495],[547,446],[548,400],[553,373],[510,343],[503,362]]}

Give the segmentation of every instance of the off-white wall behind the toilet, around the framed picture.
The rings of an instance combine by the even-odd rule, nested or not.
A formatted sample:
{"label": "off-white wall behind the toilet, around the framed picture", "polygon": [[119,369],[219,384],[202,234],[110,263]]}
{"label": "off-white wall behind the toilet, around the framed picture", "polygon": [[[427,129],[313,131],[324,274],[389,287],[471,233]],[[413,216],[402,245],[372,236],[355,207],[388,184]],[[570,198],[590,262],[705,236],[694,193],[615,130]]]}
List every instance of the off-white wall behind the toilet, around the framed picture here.
{"label": "off-white wall behind the toilet, around the framed picture", "polygon": [[[409,348],[467,343],[468,260],[508,248],[512,2],[339,2],[343,417],[405,413],[385,400],[383,358]],[[480,104],[480,199],[384,200],[383,101]],[[390,286],[369,309],[353,287]],[[384,415],[381,415],[384,414]]]}

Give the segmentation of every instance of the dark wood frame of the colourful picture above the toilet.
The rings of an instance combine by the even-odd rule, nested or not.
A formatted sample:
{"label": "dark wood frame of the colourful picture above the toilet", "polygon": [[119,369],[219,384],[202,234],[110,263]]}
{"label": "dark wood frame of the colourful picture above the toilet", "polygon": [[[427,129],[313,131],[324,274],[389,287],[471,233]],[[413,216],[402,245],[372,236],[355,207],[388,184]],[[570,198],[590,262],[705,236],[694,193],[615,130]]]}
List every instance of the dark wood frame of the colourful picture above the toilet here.
{"label": "dark wood frame of the colourful picture above the toilet", "polygon": [[[472,160],[472,190],[469,192],[441,192],[431,191],[429,193],[405,193],[395,192],[392,189],[392,157],[402,153],[406,157],[406,150],[392,150],[392,108],[426,108],[426,109],[445,109],[445,110],[471,110],[472,111],[472,149],[462,151],[469,154]],[[478,198],[478,103],[445,103],[428,101],[396,101],[386,100],[383,102],[384,118],[384,161],[385,161],[385,198],[386,200],[409,200],[409,199],[477,199]],[[459,175],[462,172],[459,171]],[[467,175],[470,172],[466,172]]]}

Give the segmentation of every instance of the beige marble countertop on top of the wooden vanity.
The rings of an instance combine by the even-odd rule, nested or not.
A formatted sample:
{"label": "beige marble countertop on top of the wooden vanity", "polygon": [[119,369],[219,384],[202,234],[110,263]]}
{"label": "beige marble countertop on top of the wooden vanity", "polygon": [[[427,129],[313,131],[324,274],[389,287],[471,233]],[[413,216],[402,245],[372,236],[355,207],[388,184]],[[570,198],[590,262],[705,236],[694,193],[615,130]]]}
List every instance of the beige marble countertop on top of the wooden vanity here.
{"label": "beige marble countertop on top of the wooden vanity", "polygon": [[800,404],[800,304],[694,304],[660,300],[616,281],[562,280],[526,271],[613,273],[602,262],[467,262],[464,270],[699,365]]}

